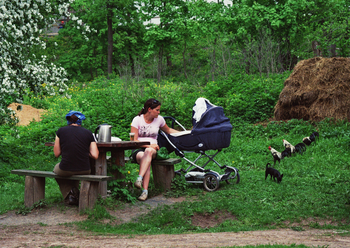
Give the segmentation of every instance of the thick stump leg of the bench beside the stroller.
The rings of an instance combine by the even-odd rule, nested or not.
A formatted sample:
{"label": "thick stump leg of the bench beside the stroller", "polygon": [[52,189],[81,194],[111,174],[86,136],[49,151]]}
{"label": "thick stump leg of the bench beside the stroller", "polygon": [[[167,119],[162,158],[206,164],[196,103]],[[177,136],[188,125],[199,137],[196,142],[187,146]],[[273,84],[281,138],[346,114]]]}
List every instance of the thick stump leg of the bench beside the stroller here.
{"label": "thick stump leg of the bench beside the stroller", "polygon": [[175,177],[174,165],[152,165],[154,187],[156,189],[170,190]]}

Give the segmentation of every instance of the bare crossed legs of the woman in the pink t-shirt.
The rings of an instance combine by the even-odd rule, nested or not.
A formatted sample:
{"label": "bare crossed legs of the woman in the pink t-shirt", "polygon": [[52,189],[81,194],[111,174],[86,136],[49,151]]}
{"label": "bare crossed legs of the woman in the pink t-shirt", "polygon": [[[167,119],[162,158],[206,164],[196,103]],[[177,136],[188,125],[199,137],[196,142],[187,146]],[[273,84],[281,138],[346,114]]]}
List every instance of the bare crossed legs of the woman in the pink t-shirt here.
{"label": "bare crossed legs of the woman in the pink t-shirt", "polygon": [[157,151],[154,148],[147,147],[145,152],[139,152],[136,155],[136,161],[140,165],[139,175],[143,177],[142,187],[148,190],[149,177],[151,176],[151,161],[152,158],[155,159],[157,156]]}

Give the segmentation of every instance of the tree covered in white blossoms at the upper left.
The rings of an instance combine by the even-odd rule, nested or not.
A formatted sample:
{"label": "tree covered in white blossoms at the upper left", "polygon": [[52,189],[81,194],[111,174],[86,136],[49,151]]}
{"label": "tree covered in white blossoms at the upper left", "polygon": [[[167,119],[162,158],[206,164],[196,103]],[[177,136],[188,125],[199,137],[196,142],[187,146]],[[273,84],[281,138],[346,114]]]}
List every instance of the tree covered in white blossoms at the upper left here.
{"label": "tree covered in white blossoms at the upper left", "polygon": [[43,28],[55,22],[53,13],[69,16],[77,28],[82,27],[83,35],[90,32],[69,13],[73,1],[0,0],[0,125],[18,122],[7,104],[22,103],[30,92],[68,96],[64,93],[68,88],[64,68],[51,63],[47,56],[37,58],[33,51],[45,49],[39,36]]}

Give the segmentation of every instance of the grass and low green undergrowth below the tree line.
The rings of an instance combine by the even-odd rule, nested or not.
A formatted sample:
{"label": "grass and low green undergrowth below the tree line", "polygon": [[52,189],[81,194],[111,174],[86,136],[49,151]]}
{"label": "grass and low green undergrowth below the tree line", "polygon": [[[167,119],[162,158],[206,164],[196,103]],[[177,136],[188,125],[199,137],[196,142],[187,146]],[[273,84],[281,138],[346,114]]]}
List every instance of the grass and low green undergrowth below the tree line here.
{"label": "grass and low green undergrowth below the tree line", "polygon": [[[349,229],[350,172],[349,145],[350,125],[346,121],[305,122],[292,119],[288,122],[266,122],[273,115],[273,107],[288,76],[276,75],[273,79],[254,76],[231,77],[208,82],[205,87],[195,87],[188,82],[142,81],[126,87],[118,78],[104,77],[90,82],[74,83],[69,90],[71,99],[47,96],[32,97],[28,104],[48,110],[41,122],[9,129],[0,127],[0,213],[11,209],[23,210],[24,179],[10,174],[11,169],[52,170],[59,161],[52,147],[44,142],[53,141],[55,131],[66,125],[64,116],[68,110],[79,110],[86,115],[83,126],[91,131],[102,123],[112,125],[112,135],[128,139],[132,118],[142,108],[143,102],[155,97],[162,102],[161,114],[173,116],[191,128],[192,107],[197,97],[206,97],[212,103],[222,105],[230,118],[233,130],[231,145],[216,157],[222,165],[233,165],[239,169],[239,184],[220,183],[215,192],[204,191],[201,185],[186,184],[176,177],[173,190],[168,196],[187,195],[190,200],[171,206],[160,206],[149,215],[134,223],[122,225],[103,224],[101,218],[112,218],[105,206],[120,205],[119,200],[134,201],[139,192],[121,187],[120,182],[111,182],[113,198],[89,213],[90,218],[79,225],[94,232],[107,233],[182,233],[245,231],[269,228],[271,224],[289,227],[286,223],[297,223],[311,217],[313,228],[334,228],[322,225],[318,220],[332,220],[338,229]],[[260,124],[257,124],[257,121]],[[316,145],[307,147],[303,155],[293,155],[276,164],[284,174],[281,184],[269,178],[265,181],[266,163],[273,162],[272,146],[282,151],[282,139],[296,144],[313,131],[320,133]],[[130,151],[129,151],[130,152]],[[126,155],[128,155],[128,153]],[[176,157],[174,153],[170,154]],[[194,159],[195,154],[188,154]],[[187,168],[186,163],[176,169]],[[221,170],[213,163],[208,168]],[[126,181],[133,181],[138,167],[127,163],[124,173]],[[149,196],[159,194],[151,184]],[[62,202],[57,184],[48,180],[45,204]],[[147,202],[146,202],[147,203]],[[231,213],[235,220],[226,220],[212,228],[192,225],[191,216],[216,211]],[[142,225],[140,224],[142,223]]]}

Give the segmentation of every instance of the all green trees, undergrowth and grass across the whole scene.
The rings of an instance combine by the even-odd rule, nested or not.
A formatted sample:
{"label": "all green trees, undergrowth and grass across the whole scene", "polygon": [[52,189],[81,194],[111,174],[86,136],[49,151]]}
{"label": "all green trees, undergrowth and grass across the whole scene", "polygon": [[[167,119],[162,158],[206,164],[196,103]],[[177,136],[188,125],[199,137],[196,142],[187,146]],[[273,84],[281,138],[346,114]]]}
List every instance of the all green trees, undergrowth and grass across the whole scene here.
{"label": "all green trees, undergrowth and grass across the whole scene", "polygon": [[[298,61],[349,57],[347,1],[233,1],[228,6],[202,0],[76,0],[69,9],[96,32],[82,32],[71,20],[58,36],[39,37],[46,49],[28,47],[28,56],[46,56],[68,72],[69,97],[62,92],[38,94],[46,85],[31,87],[29,78],[23,103],[47,114],[28,126],[0,126],[1,213],[23,206],[24,180],[10,174],[11,169],[49,171],[59,161],[44,142],[54,141],[55,131],[66,125],[68,110],[82,111],[87,129],[109,123],[113,136],[127,140],[131,120],[146,99],[161,101],[161,115],[173,116],[190,129],[194,102],[205,97],[222,106],[230,118],[231,145],[218,161],[239,168],[241,182],[221,184],[221,190],[204,194],[202,188],[176,178],[168,195],[199,200],[177,206],[181,214],[169,214],[163,207],[164,216],[177,218],[169,232],[193,230],[188,214],[215,210],[235,212],[238,221],[212,231],[265,228],[309,216],[343,221],[349,229],[348,121],[271,121],[283,82]],[[160,25],[143,24],[153,16],[159,16]],[[9,104],[16,98],[2,100]],[[317,145],[276,166],[285,174],[281,186],[265,181],[264,168],[273,161],[267,147],[282,151],[283,138],[295,144],[315,130],[320,133]],[[114,180],[109,189],[115,198],[133,202],[136,193],[123,185],[135,179],[137,169],[127,164],[122,173],[125,181]],[[54,180],[47,180],[46,193],[48,203],[62,201]],[[158,193],[151,186],[150,197]],[[164,216],[158,217],[168,220]],[[147,232],[149,226],[152,232],[168,232],[159,218],[156,224],[146,218],[148,224],[138,232]]]}

